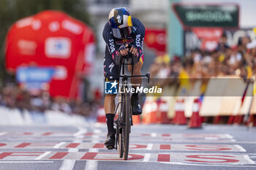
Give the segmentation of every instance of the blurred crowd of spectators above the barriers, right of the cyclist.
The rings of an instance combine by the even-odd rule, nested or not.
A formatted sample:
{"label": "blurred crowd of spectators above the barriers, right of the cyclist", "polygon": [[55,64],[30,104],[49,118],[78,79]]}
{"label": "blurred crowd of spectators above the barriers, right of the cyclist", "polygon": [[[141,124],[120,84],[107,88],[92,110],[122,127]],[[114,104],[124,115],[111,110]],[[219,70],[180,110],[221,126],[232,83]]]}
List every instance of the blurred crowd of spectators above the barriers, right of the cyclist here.
{"label": "blurred crowd of spectators above the barriers, right of the cyclist", "polygon": [[[241,37],[238,45],[229,47],[227,36],[222,34],[217,50],[213,52],[194,50],[186,57],[173,57],[170,64],[156,58],[149,71],[151,77],[168,78],[161,85],[189,85],[193,79],[202,79],[226,75],[238,75],[248,78],[255,74],[256,40],[250,42],[248,36]],[[172,79],[176,80],[173,81]],[[179,79],[178,79],[179,78]],[[187,79],[189,81],[184,81]],[[182,80],[182,81],[181,81]],[[203,80],[203,82],[208,82]]]}

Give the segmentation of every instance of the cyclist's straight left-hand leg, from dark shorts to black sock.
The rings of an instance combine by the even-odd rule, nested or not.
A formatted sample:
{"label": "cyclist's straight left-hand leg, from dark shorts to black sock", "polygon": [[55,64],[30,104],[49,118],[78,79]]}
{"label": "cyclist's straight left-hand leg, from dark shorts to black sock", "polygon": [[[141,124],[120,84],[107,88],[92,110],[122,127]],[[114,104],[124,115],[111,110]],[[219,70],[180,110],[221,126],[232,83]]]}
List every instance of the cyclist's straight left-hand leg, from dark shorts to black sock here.
{"label": "cyclist's straight left-hand leg, from dark shorts to black sock", "polygon": [[[105,74],[118,76],[118,66],[114,63],[113,58],[110,56],[108,51],[106,51],[106,53],[105,53],[104,60],[105,60],[104,61]],[[107,80],[107,81],[114,81],[114,80],[117,80],[116,77],[113,77],[113,79]],[[104,107],[105,107],[105,114],[106,114],[106,118],[107,118],[108,135],[115,134],[114,128],[113,128],[115,98],[116,98],[115,94],[106,94],[105,95]]]}

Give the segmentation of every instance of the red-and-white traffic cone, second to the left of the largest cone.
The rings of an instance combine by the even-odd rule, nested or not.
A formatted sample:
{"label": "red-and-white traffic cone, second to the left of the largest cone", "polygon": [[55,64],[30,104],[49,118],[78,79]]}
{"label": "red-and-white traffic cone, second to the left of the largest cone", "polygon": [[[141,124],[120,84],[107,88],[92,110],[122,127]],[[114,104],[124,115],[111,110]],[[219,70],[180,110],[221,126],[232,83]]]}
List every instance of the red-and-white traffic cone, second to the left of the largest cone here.
{"label": "red-and-white traffic cone, second to the left of the largest cone", "polygon": [[168,124],[170,123],[169,118],[167,117],[168,105],[166,101],[160,100],[158,104],[158,120],[159,123]]}

